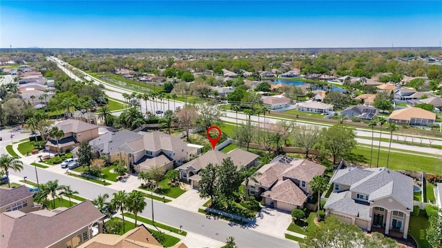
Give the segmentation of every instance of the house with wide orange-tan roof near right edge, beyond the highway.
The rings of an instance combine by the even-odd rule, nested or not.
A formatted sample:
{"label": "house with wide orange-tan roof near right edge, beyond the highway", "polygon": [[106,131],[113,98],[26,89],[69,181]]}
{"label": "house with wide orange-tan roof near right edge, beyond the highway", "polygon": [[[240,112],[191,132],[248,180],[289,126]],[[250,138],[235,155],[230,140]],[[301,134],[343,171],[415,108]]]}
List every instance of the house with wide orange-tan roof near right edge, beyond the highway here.
{"label": "house with wide orange-tan roof near right edge, beyond the highway", "polygon": [[408,107],[402,110],[394,110],[390,114],[389,121],[397,125],[428,126],[436,121],[436,114],[420,107]]}

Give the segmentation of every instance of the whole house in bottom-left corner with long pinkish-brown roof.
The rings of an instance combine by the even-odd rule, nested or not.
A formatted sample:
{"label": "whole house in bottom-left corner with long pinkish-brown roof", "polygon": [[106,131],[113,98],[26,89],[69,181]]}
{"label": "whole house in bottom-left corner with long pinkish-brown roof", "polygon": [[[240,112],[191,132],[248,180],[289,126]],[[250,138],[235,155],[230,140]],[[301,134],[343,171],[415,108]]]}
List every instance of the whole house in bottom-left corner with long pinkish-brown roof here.
{"label": "whole house in bottom-left corner with long pinkish-brown roof", "polygon": [[89,200],[73,207],[0,214],[0,247],[75,248],[103,232],[104,214]]}

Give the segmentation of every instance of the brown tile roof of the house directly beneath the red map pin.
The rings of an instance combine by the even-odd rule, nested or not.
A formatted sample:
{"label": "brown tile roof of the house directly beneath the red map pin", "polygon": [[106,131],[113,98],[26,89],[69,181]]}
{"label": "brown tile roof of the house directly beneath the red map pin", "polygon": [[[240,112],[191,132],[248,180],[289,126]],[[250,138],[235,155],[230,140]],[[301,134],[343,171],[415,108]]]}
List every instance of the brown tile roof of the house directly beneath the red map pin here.
{"label": "brown tile roof of the house directly beneath the red map pin", "polygon": [[252,154],[251,152],[244,151],[243,149],[235,149],[229,154],[224,154],[220,151],[211,150],[209,152],[206,152],[205,154],[202,154],[198,158],[195,158],[184,165],[181,165],[178,167],[178,169],[187,169],[189,167],[193,167],[196,171],[199,171],[200,169],[205,168],[209,163],[212,163],[213,165],[221,165],[222,160],[224,158],[231,158],[233,161],[233,164],[240,169],[240,167],[244,165],[248,165],[253,160],[258,158],[258,155]]}

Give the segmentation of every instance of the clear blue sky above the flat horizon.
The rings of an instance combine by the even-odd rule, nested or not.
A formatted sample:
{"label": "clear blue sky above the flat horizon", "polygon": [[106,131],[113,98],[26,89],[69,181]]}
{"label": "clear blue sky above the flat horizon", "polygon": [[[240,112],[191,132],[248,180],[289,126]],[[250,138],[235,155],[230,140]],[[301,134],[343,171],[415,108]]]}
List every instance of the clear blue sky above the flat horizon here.
{"label": "clear blue sky above the flat horizon", "polygon": [[439,46],[442,1],[0,1],[0,48]]}

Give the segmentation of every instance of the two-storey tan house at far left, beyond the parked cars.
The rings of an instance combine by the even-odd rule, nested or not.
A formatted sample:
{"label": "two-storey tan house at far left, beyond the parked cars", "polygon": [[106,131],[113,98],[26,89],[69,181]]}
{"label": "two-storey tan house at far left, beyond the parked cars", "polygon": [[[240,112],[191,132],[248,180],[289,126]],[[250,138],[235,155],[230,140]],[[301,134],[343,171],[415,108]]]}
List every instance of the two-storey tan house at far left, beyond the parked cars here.
{"label": "two-storey tan house at far left, beyond the parked cars", "polygon": [[49,137],[46,142],[46,149],[53,152],[66,152],[67,149],[72,149],[83,141],[90,141],[99,136],[98,126],[78,121],[75,119],[68,119],[55,125],[59,130],[63,130],[64,137],[58,141],[59,150],[57,150],[57,140]]}

